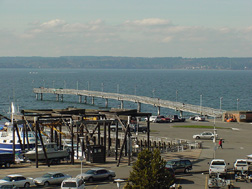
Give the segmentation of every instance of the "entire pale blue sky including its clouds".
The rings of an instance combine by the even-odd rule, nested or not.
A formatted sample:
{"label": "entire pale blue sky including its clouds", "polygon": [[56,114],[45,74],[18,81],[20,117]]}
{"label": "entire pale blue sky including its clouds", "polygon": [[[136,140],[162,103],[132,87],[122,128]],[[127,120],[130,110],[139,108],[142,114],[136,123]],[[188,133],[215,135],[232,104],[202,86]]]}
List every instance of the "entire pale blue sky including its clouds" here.
{"label": "entire pale blue sky including its clouds", "polygon": [[252,57],[252,0],[0,0],[0,56]]}

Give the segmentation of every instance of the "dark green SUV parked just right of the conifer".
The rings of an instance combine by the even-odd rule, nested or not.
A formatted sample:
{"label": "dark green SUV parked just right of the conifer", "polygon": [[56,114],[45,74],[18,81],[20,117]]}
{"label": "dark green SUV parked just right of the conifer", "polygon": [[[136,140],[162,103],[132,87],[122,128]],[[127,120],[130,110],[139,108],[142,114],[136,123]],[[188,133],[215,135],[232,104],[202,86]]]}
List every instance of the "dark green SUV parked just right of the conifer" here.
{"label": "dark green SUV parked just right of the conifer", "polygon": [[165,168],[173,169],[176,173],[188,173],[192,170],[192,162],[189,159],[172,159],[167,161]]}

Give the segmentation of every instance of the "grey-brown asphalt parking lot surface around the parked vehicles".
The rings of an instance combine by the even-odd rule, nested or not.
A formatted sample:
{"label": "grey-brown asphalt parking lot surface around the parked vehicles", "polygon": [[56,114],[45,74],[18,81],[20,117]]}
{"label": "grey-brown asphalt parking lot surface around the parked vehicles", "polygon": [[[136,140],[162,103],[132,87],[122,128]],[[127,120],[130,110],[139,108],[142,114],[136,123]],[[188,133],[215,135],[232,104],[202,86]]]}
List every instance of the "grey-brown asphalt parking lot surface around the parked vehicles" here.
{"label": "grey-brown asphalt parking lot surface around the parked vehicles", "polygon": [[[184,123],[151,123],[151,136],[152,137],[168,137],[168,138],[180,138],[195,141],[192,139],[192,135],[199,134],[203,131],[208,131],[207,129],[195,129],[195,128],[175,128],[175,125],[210,125],[213,126],[212,120],[205,122],[194,122],[186,121]],[[193,161],[193,170],[189,174],[178,174],[177,183],[179,183],[182,188],[204,189],[206,187],[206,179],[208,178],[208,162],[213,159],[214,155],[216,158],[225,159],[226,162],[230,163],[228,168],[231,170],[233,163],[238,158],[245,158],[246,155],[252,154],[252,124],[250,123],[224,123],[221,121],[215,122],[216,127],[221,127],[218,129],[217,133],[219,138],[224,139],[223,149],[214,150],[214,143],[211,140],[202,140],[203,149],[188,150],[184,152],[170,152],[163,154],[163,157],[167,159],[173,158],[190,158]],[[217,145],[217,144],[216,144]],[[102,164],[88,164],[83,165],[83,172],[90,167],[107,167],[116,172],[117,177],[121,179],[126,179],[129,176],[131,166],[127,165],[127,158],[124,162],[120,164],[119,167],[116,166],[114,158],[107,158],[107,163]],[[7,174],[18,173],[29,177],[38,177],[48,171],[61,171],[68,173],[72,176],[76,176],[80,173],[80,162],[76,162],[75,165],[63,164],[63,165],[53,165],[47,167],[45,165],[35,168],[32,166],[17,166],[9,169],[1,169],[0,178],[3,178]],[[124,183],[121,184],[121,186]],[[236,188],[249,189],[252,188],[252,183],[245,182],[234,182]],[[59,186],[52,186],[47,188],[60,188]],[[113,182],[97,182],[97,183],[86,183],[86,188],[117,188],[116,183]],[[122,188],[122,187],[121,187]]]}

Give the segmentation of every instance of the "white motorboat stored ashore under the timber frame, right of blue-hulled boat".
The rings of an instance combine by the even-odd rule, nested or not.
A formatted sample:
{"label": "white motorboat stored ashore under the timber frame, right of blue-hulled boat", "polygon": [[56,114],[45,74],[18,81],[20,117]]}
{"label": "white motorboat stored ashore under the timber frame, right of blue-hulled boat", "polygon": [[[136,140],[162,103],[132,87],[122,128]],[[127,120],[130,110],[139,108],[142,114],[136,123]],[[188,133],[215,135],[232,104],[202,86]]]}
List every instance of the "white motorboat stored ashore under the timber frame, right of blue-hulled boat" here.
{"label": "white motorboat stored ashore under the timber frame, right of blue-hulled boat", "polygon": [[[56,143],[49,142],[49,143],[44,144],[44,147],[45,147],[47,158],[49,160],[61,160],[61,159],[69,157],[69,152],[67,150],[58,149]],[[36,148],[24,153],[24,156],[27,159],[29,159],[30,161],[35,161],[36,160]],[[46,160],[45,154],[43,151],[43,147],[41,144],[38,145],[38,160],[39,161]]]}

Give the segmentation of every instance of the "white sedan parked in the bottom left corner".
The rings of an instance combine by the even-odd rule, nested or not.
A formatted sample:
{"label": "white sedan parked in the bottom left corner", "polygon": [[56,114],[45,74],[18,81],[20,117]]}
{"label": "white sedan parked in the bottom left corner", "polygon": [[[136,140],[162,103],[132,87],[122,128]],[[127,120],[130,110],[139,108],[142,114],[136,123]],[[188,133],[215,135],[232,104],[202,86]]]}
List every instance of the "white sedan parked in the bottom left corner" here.
{"label": "white sedan parked in the bottom left corner", "polygon": [[33,178],[27,178],[22,175],[12,174],[7,175],[0,180],[0,186],[12,186],[20,188],[29,188],[31,185],[34,185]]}

